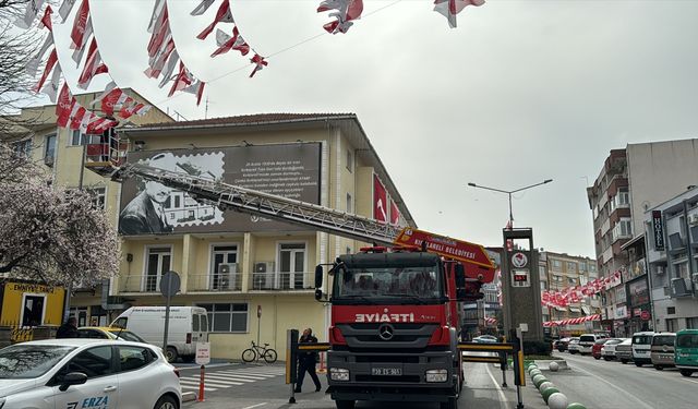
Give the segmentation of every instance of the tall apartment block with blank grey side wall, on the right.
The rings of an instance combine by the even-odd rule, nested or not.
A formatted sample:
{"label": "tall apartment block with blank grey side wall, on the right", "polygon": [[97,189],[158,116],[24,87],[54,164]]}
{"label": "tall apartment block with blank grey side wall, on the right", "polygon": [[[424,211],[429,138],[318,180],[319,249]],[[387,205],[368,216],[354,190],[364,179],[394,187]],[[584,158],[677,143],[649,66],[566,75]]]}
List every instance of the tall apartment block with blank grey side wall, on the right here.
{"label": "tall apartment block with blank grey side wall, on the right", "polygon": [[[610,152],[594,184],[587,188],[601,277],[629,270],[624,244],[643,233],[645,212],[696,180],[698,140],[628,144]],[[604,327],[627,326],[631,316],[623,278],[607,286],[602,304]]]}

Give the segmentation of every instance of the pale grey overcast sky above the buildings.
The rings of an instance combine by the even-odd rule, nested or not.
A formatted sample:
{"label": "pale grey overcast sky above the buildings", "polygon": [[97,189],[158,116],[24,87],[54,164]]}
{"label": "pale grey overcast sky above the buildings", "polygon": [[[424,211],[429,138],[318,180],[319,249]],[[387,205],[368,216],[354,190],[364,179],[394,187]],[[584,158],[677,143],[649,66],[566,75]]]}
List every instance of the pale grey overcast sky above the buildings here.
{"label": "pale grey overcast sky above the buildings", "polygon": [[[491,0],[466,8],[452,29],[430,0],[364,0],[364,17],[333,36],[322,35],[330,19],[315,12],[318,0],[234,0],[241,34],[270,56],[254,79],[238,52],[208,57],[215,36],[195,36],[218,2],[190,16],[197,3],[169,0],[170,20],[188,67],[216,80],[208,118],[356,112],[419,227],[433,232],[500,245],[507,196],[467,183],[514,190],[554,179],[515,194],[515,227],[532,227],[537,246],[593,257],[585,188],[609,151],[698,137],[698,1]],[[143,75],[153,1],[91,4],[119,86],[171,115],[205,117],[193,96],[168,99]],[[56,27],[61,61],[69,31]],[[68,76],[74,85],[77,73]]]}

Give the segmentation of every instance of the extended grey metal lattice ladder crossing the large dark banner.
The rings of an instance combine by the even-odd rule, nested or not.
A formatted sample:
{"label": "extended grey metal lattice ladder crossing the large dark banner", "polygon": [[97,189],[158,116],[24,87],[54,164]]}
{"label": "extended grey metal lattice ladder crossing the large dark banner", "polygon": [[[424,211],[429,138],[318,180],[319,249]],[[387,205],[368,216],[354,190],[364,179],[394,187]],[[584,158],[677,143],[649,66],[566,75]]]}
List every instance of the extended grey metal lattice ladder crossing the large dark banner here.
{"label": "extended grey metal lattice ladder crossing the large dark banner", "polygon": [[231,209],[294,225],[312,226],[316,230],[352,240],[393,244],[400,232],[399,227],[387,222],[142,164],[123,165],[116,169],[111,179],[122,182],[133,176],[186,192],[192,199],[215,204],[221,210]]}

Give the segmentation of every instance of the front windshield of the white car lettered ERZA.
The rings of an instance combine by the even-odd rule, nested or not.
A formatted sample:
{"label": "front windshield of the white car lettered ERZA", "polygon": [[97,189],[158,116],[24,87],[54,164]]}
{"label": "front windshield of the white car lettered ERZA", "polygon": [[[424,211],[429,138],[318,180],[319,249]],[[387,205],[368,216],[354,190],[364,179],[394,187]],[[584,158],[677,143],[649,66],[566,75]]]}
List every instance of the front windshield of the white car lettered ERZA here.
{"label": "front windshield of the white car lettered ERZA", "polygon": [[75,347],[58,345],[14,345],[0,350],[0,378],[41,376]]}

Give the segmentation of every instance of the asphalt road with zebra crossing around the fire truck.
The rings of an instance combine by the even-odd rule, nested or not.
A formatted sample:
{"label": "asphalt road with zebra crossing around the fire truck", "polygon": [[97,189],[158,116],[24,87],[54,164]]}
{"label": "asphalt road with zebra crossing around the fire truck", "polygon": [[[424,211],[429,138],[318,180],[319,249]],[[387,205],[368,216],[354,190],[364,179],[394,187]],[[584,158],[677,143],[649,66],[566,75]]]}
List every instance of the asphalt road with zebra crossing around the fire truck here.
{"label": "asphalt road with zebra crossing around the fire truck", "polygon": [[[315,393],[312,381],[305,380],[303,390],[296,394],[297,404],[289,405],[290,386],[285,384],[282,365],[221,365],[206,372],[206,392],[204,402],[189,402],[185,409],[334,409],[335,404],[324,392]],[[326,388],[324,374],[318,374]],[[183,392],[195,392],[198,370],[182,369]],[[505,409],[515,408],[516,388],[512,371],[507,373],[508,388],[502,388],[502,371],[486,363],[466,363],[466,385],[459,399],[460,408]],[[533,387],[522,388],[527,409],[546,408],[540,394]],[[412,402],[366,402],[360,401],[357,408],[364,409],[438,409],[437,404]]]}

